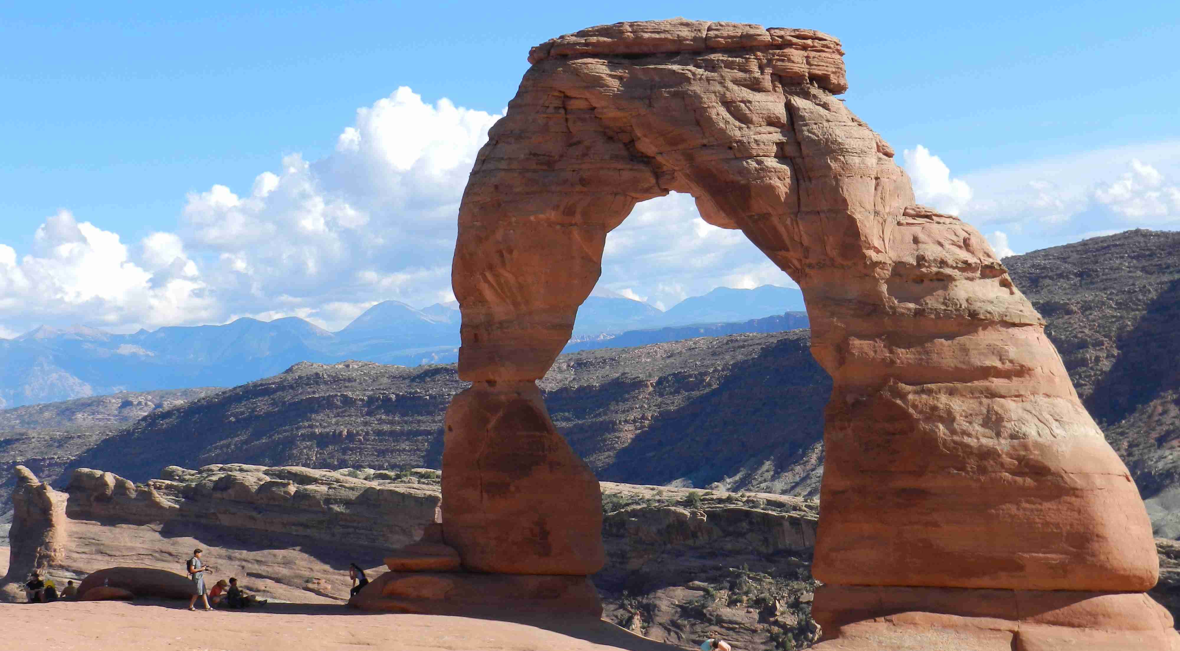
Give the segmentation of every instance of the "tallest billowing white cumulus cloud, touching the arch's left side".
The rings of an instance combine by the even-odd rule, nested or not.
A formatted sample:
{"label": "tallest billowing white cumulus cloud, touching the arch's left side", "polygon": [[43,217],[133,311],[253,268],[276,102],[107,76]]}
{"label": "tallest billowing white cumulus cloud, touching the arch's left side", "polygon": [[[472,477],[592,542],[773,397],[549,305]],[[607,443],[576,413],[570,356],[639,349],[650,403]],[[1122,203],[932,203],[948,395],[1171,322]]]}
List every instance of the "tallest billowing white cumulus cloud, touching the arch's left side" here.
{"label": "tallest billowing white cumulus cloud, touching the arch's left side", "polygon": [[327,158],[287,156],[249,195],[191,193],[181,232],[216,255],[228,314],[339,329],[360,314],[340,305],[448,301],[459,199],[498,118],[398,88],[358,110]]}

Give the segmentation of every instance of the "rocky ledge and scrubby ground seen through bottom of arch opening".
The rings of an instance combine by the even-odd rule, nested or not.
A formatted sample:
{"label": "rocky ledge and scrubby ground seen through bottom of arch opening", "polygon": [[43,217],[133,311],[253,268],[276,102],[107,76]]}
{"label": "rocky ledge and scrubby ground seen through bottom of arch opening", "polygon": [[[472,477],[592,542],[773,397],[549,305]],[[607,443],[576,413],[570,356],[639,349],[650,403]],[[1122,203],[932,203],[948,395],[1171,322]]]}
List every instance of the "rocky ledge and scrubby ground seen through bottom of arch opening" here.
{"label": "rocky ledge and scrubby ground seen through bottom of arch opening", "polygon": [[603,482],[604,617],[696,649],[720,633],[735,649],[814,642],[814,500]]}

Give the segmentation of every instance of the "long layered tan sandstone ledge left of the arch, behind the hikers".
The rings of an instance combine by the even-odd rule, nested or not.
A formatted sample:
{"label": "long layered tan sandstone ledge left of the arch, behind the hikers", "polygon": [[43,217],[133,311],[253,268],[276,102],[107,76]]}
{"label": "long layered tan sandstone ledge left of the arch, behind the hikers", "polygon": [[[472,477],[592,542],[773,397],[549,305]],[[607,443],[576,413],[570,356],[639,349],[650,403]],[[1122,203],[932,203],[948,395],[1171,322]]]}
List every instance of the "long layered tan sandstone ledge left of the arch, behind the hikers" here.
{"label": "long layered tan sandstone ledge left of the arch, behind the hikers", "polygon": [[104,571],[98,576],[113,587],[163,596],[170,584],[160,577],[183,572],[202,547],[211,579],[236,576],[264,597],[341,604],[350,563],[379,566],[439,513],[437,471],[396,478],[229,463],[172,466],[163,475],[133,484],[84,468],[61,493],[27,473],[13,494],[12,564],[0,598],[22,600],[19,584],[33,567],[59,585]]}

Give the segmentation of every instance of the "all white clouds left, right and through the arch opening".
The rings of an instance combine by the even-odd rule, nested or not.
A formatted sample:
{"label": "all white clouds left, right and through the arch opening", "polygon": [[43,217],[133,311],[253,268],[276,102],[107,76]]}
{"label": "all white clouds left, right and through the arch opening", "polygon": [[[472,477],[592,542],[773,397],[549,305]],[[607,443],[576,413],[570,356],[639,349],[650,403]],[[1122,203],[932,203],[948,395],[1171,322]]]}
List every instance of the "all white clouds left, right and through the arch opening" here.
{"label": "all white clouds left, right and through the arch opening", "polygon": [[[68,211],[31,250],[0,244],[0,337],[41,322],[117,331],[299,316],[337,330],[379,301],[453,301],[467,175],[498,114],[407,87],[356,111],[319,160],[290,153],[249,185],[191,192],[175,223],[126,242]],[[956,176],[903,152],[919,202],[989,232],[1001,256],[1082,234],[1180,225],[1180,143],[1088,152]],[[644,202],[607,238],[599,288],[667,309],[715,287],[794,283],[693,198]]]}

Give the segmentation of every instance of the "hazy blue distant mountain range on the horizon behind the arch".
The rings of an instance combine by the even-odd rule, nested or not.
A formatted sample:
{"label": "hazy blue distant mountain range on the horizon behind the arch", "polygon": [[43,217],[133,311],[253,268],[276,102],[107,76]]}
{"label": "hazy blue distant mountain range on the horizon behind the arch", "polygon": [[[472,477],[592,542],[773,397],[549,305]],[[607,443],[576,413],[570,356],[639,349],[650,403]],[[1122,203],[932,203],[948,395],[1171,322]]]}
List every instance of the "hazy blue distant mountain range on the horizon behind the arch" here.
{"label": "hazy blue distant mountain range on the horizon behind the arch", "polygon": [[[668,311],[596,290],[578,310],[577,349],[634,346],[686,336],[722,334],[771,315],[804,311],[798,289],[762,285],[717,288],[686,298]],[[296,362],[335,363],[363,360],[417,366],[453,362],[459,347],[457,303],[414,309],[398,301],[369,308],[352,323],[329,333],[302,318],[270,322],[238,318],[225,326],[168,327],[116,335],[76,326],[40,327],[12,340],[0,340],[0,409],[122,390],[231,387],[283,371]],[[710,324],[700,334],[653,329]],[[792,318],[795,328],[798,317]],[[753,324],[765,331],[768,323]],[[746,331],[739,326],[738,331]],[[629,330],[644,330],[634,335]],[[628,336],[623,336],[623,335]],[[616,335],[620,338],[614,341]],[[572,346],[572,344],[571,344]]]}

